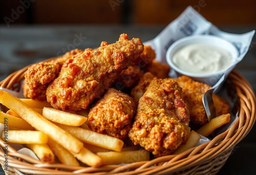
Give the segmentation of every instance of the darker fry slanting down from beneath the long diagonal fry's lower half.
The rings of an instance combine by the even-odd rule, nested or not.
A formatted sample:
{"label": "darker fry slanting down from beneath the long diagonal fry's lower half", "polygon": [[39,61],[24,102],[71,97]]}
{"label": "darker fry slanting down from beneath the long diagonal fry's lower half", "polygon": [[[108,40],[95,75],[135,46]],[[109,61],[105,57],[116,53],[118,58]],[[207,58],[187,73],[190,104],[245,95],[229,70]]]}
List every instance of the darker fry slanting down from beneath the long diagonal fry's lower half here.
{"label": "darker fry slanting down from beneath the long diagonal fry's lower half", "polygon": [[79,166],[80,164],[76,160],[76,158],[61,145],[56,143],[51,138],[48,139],[48,145],[53,151],[53,154],[59,159],[62,164],[71,165],[71,166]]}

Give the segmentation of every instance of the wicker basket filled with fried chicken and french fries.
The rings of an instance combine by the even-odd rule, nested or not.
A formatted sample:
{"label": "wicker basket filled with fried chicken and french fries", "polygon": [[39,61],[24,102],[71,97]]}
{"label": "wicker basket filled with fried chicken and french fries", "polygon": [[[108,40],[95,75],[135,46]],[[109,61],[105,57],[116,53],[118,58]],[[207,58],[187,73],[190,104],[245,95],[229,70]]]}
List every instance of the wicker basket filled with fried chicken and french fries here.
{"label": "wicker basket filled with fried chicken and french fries", "polygon": [[157,48],[121,34],[1,81],[4,171],[216,174],[255,122],[254,92],[236,70],[224,73],[209,117],[211,86],[172,77]]}

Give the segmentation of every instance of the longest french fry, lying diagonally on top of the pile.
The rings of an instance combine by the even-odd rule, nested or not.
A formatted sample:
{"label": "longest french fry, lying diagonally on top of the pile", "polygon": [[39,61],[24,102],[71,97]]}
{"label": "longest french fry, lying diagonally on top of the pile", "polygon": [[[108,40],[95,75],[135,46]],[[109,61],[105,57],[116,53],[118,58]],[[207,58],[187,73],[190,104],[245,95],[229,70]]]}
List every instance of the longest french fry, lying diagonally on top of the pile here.
{"label": "longest french fry, lying diagonally on top of the pile", "polygon": [[32,127],[47,134],[67,150],[78,153],[83,147],[83,143],[77,138],[56,126],[46,118],[42,117],[42,115],[38,114],[28,104],[12,96],[11,94],[0,90],[0,103],[8,108],[11,108]]}

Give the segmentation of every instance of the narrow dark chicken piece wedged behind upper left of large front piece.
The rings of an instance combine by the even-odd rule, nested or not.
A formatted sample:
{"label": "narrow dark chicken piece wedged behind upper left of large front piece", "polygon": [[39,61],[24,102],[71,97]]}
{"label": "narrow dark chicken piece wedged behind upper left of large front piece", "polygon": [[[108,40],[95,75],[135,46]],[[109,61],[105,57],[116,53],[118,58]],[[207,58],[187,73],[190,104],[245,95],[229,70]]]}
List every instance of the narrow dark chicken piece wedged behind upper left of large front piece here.
{"label": "narrow dark chicken piece wedged behind upper left of large front piece", "polygon": [[138,84],[132,89],[131,97],[134,100],[136,106],[139,104],[140,97],[146,92],[147,86],[150,85],[151,81],[155,78],[155,76],[146,72],[139,80]]}

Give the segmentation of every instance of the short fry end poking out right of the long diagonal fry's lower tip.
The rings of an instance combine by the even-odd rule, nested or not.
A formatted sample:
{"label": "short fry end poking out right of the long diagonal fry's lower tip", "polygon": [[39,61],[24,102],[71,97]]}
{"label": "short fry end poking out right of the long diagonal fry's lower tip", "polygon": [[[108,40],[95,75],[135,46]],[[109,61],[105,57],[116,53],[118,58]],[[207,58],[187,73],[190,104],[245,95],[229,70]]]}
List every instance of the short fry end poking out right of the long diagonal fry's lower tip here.
{"label": "short fry end poking out right of the long diagonal fry's lower tip", "polygon": [[[72,153],[73,154],[73,153]],[[87,148],[82,148],[78,154],[73,154],[79,161],[89,166],[98,167],[102,164],[102,160],[99,156],[94,154]]]}

